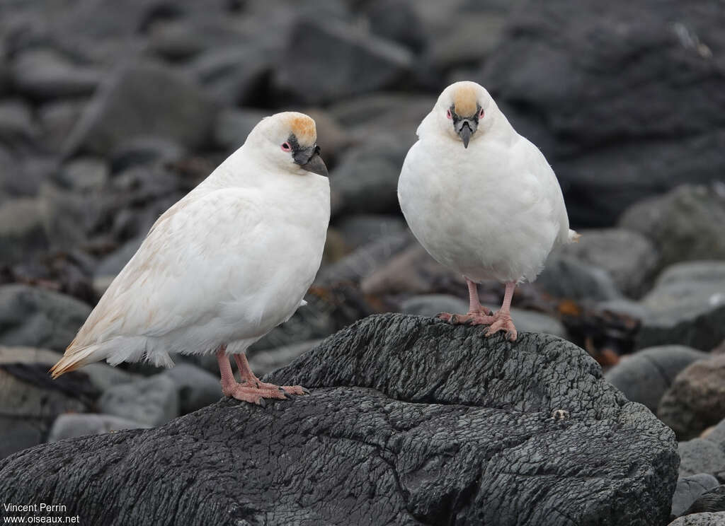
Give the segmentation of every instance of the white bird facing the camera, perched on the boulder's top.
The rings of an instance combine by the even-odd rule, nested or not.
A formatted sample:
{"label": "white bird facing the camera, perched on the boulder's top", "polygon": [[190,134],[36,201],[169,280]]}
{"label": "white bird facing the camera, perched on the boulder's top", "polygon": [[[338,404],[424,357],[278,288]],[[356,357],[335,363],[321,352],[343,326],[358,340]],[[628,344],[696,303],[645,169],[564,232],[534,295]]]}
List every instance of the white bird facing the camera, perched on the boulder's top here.
{"label": "white bird facing the camera, perched on the boulder's top", "polygon": [[[516,284],[536,279],[553,247],[579,237],[554,171],[476,82],[443,90],[417,134],[400,173],[400,208],[428,253],[463,275],[470,300],[467,314],[439,317],[490,325],[489,336],[506,331],[515,340]],[[506,286],[496,314],[479,302],[484,279]]]}

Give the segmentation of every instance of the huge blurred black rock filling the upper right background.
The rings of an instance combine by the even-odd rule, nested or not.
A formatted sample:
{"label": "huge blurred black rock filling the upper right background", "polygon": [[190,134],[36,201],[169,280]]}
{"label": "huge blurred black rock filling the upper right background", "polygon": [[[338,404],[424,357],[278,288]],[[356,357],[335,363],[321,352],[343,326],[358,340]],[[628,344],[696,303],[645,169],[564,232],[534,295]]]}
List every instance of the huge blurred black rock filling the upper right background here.
{"label": "huge blurred black rock filling the upper right background", "polygon": [[724,24],[709,0],[529,0],[478,77],[542,148],[572,224],[609,226],[642,198],[721,179]]}

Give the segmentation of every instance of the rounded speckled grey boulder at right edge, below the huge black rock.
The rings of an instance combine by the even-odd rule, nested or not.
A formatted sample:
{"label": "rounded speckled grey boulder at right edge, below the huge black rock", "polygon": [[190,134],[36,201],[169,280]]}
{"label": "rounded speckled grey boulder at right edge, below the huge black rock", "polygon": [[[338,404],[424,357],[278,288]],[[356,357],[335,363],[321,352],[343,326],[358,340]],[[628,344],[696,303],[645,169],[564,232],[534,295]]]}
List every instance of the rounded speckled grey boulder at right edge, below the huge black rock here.
{"label": "rounded speckled grey boulder at right edge, below the huge black rock", "polygon": [[619,224],[641,232],[660,250],[660,266],[725,258],[725,184],[677,187],[631,205]]}

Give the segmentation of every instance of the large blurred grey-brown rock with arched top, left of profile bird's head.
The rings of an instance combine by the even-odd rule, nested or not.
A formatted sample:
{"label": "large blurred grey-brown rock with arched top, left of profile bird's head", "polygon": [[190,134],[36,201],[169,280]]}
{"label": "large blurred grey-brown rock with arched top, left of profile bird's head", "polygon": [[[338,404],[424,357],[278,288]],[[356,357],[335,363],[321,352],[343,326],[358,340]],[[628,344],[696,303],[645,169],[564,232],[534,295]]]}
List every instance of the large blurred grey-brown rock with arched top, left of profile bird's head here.
{"label": "large blurred grey-brown rock with arched top, left of profile bird's head", "polygon": [[191,80],[159,64],[117,69],[99,88],[69,137],[68,153],[101,156],[138,135],[194,148],[207,140],[215,108]]}

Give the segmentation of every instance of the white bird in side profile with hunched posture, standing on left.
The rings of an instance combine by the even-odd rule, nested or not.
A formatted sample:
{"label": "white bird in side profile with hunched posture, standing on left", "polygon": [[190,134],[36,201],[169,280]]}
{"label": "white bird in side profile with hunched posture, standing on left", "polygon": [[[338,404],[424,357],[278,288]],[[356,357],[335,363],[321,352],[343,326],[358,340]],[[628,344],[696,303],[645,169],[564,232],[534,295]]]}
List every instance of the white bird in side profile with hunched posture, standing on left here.
{"label": "white bird in side profile with hunched posture, standing on left", "polygon": [[53,377],[99,360],[171,367],[170,353],[215,353],[226,396],[263,405],[307,392],[262,383],[244,351],[304,303],[320,267],[330,186],[316,140],[305,114],[262,119],[239,150],[159,217]]}

